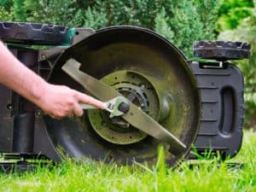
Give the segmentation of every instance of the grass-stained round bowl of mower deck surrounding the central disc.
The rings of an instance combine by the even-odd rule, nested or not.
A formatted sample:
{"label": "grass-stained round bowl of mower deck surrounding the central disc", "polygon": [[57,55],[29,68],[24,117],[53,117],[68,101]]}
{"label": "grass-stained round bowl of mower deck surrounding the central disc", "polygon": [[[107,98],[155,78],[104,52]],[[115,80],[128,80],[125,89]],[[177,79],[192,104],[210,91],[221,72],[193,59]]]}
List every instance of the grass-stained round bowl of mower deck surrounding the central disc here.
{"label": "grass-stained round bowl of mower deck surrounding the central disc", "polygon": [[[122,70],[146,75],[150,82],[154,82],[160,98],[169,96],[172,100],[167,115],[166,110],[162,110],[166,102],[160,102],[160,117],[164,117],[159,119],[160,125],[186,146],[195,141],[201,116],[196,81],[183,55],[165,38],[143,28],[117,26],[97,31],[65,50],[55,62],[49,82],[66,84],[86,92],[80,84],[61,71],[70,57],[82,64],[81,71],[96,79]],[[159,141],[146,137],[130,145],[109,143],[91,127],[87,113],[76,119],[55,120],[46,116],[44,122],[56,148],[70,156],[121,163],[156,160]],[[166,152],[166,159],[173,163],[180,156],[174,157]]]}

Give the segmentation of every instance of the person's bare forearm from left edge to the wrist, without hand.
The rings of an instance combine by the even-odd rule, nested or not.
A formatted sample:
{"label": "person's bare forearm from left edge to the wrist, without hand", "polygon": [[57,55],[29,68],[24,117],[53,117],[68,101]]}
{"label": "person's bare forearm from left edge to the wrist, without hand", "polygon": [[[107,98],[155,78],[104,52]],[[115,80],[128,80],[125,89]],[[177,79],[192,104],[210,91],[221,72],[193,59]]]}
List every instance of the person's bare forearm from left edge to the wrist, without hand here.
{"label": "person's bare forearm from left edge to the wrist, without hand", "polygon": [[[25,67],[0,42],[0,83],[38,103],[47,86],[44,79]],[[40,94],[41,93],[41,94]]]}

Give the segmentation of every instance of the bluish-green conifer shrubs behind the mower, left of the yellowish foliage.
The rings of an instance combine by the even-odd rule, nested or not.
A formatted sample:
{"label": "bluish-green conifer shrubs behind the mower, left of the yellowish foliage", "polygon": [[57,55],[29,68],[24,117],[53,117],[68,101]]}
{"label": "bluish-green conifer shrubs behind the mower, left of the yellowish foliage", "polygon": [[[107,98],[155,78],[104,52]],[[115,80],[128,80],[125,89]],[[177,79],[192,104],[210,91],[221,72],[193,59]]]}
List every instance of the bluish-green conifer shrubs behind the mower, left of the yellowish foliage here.
{"label": "bluish-green conifer shrubs behind the mower, left of the yellowish foliage", "polygon": [[[14,20],[71,27],[134,25],[159,32],[191,57],[195,40],[213,39],[217,0],[5,0]],[[6,16],[2,20],[9,20]]]}

